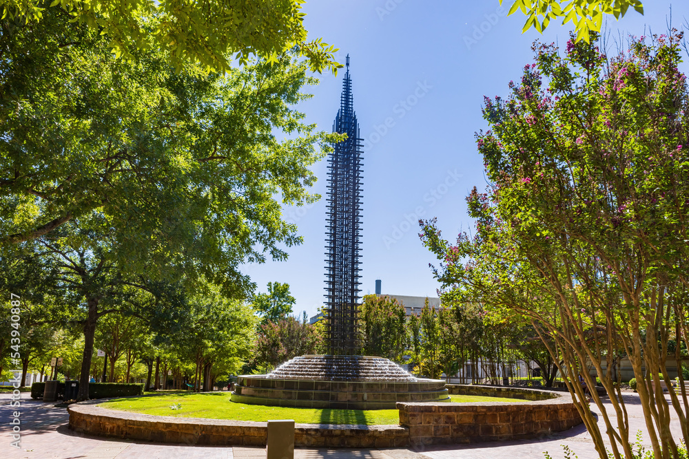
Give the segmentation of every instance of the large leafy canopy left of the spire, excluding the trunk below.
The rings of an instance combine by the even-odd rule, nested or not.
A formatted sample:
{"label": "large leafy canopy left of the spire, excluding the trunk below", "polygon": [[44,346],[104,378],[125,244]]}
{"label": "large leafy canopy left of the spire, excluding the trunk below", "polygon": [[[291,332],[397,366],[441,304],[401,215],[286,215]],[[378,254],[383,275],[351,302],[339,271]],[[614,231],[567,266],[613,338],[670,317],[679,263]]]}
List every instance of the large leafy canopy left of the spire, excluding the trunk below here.
{"label": "large leafy canopy left of the spire, excluding the trunk below", "polygon": [[[287,53],[223,74],[191,64],[175,72],[158,50],[114,58],[103,36],[56,11],[43,12],[40,28],[8,25],[0,35],[0,244],[97,209],[114,228],[139,226],[122,246],[132,252],[205,247],[213,253],[199,266],[209,268],[284,257],[270,241],[300,238],[276,197],[315,200],[309,165],[321,158],[316,145],[335,139],[292,107],[316,83],[305,63]],[[236,250],[233,238],[268,250]],[[216,250],[225,245],[234,248]]]}

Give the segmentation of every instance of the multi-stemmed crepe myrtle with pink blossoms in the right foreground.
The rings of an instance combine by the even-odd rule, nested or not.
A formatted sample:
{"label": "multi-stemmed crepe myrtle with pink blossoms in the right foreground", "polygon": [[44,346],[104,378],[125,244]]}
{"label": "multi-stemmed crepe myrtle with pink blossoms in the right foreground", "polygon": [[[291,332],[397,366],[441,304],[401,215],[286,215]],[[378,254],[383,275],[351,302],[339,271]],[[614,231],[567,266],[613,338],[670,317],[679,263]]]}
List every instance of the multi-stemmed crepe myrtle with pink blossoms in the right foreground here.
{"label": "multi-stemmed crepe myrtle with pink blossoms in the right foreground", "polygon": [[531,319],[601,458],[603,432],[577,376],[589,387],[591,372],[600,378],[610,407],[592,395],[610,454],[633,457],[619,374],[614,380],[604,370],[621,352],[640,381],[654,456],[679,458],[670,409],[688,440],[686,389],[682,383],[681,403],[665,367],[670,339],[686,339],[689,94],[678,68],[681,40],[675,31],[631,37],[629,50],[612,58],[574,37],[562,54],[536,43],[535,62],[509,84],[511,96],[485,100],[491,130],[477,134],[477,145],[492,183],[467,198],[475,235],[451,244],[434,221],[422,228],[444,286],[471,288],[486,307]]}

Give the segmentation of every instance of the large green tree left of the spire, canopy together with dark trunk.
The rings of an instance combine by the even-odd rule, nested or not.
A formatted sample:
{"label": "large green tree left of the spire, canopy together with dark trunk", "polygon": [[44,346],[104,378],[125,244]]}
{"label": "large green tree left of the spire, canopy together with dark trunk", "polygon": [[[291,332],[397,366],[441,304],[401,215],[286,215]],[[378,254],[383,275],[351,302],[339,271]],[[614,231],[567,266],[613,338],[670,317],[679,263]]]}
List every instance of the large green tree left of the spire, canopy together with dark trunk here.
{"label": "large green tree left of the spire, canopy together with dark trunk", "polygon": [[39,255],[83,325],[84,398],[101,317],[169,324],[191,305],[176,291],[205,282],[251,294],[240,266],[300,244],[281,204],[317,199],[309,167],[340,137],[294,109],[316,82],[294,52],[207,75],[159,50],[115,58],[54,8],[41,27],[4,25],[3,253]]}

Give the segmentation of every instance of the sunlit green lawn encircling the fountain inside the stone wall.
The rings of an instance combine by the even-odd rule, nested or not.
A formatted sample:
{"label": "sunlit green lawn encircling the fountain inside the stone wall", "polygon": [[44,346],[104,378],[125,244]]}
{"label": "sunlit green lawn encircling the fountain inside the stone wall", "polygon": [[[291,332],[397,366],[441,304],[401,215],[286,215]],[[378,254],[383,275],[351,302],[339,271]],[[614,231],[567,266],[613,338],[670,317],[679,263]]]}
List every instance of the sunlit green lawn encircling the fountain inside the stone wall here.
{"label": "sunlit green lawn encircling the fountain inside the stone wall", "polygon": [[[452,395],[451,401],[460,403],[517,401],[510,398]],[[180,404],[180,409],[172,405]],[[121,409],[126,412],[154,414],[157,416],[178,416],[183,418],[209,418],[267,421],[269,419],[294,419],[304,424],[399,424],[397,409],[313,409],[265,407],[234,403],[228,392],[194,394],[174,392],[145,395],[132,398],[118,398],[101,403],[101,407]]]}

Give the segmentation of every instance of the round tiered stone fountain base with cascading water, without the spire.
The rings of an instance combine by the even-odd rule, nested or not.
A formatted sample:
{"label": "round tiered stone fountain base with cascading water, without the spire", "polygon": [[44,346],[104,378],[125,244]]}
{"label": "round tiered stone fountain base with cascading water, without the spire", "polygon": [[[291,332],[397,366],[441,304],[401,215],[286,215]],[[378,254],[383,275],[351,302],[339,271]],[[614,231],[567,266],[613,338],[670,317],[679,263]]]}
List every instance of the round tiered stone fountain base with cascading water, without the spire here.
{"label": "round tiered stone fountain base with cascading water, without the spire", "polygon": [[269,374],[239,376],[232,401],[280,407],[394,409],[449,402],[445,381],[415,378],[380,357],[300,356]]}

